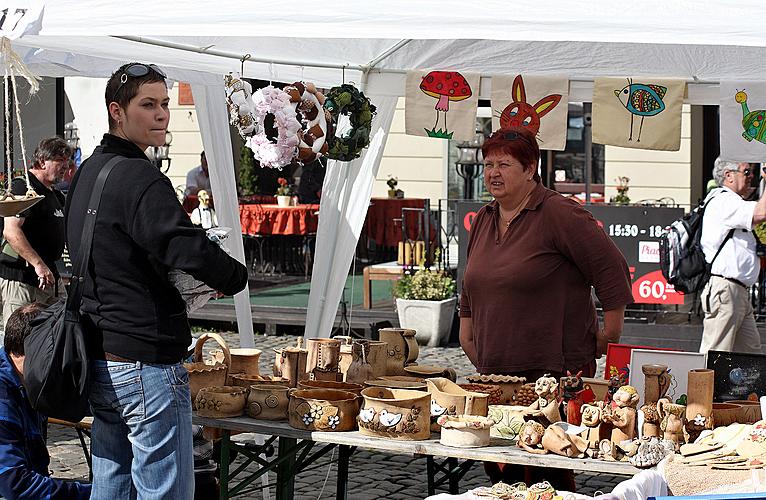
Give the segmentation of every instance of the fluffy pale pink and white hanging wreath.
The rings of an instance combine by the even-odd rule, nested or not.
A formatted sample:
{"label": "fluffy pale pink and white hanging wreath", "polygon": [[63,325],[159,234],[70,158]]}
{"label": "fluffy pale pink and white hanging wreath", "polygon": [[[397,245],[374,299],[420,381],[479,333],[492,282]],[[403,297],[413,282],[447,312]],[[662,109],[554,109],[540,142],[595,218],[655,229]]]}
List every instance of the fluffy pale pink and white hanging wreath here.
{"label": "fluffy pale pink and white hanging wreath", "polygon": [[253,156],[264,167],[288,165],[298,152],[301,131],[290,95],[269,85],[256,91],[252,101],[258,133],[248,139],[247,145]]}

